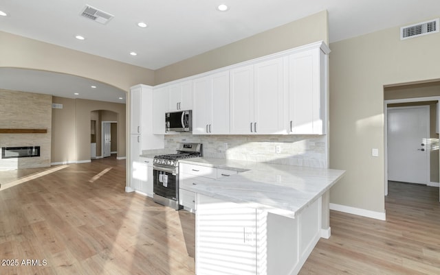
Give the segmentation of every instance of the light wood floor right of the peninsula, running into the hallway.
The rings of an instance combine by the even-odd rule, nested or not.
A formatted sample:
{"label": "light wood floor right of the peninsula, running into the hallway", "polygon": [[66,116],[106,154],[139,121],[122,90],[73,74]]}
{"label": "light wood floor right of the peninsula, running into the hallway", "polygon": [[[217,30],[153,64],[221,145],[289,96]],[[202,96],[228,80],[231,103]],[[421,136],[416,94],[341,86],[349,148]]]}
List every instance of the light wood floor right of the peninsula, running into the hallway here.
{"label": "light wood floor right of the peninsula, running into the hallway", "polygon": [[386,222],[330,212],[300,274],[440,274],[439,188],[388,183]]}

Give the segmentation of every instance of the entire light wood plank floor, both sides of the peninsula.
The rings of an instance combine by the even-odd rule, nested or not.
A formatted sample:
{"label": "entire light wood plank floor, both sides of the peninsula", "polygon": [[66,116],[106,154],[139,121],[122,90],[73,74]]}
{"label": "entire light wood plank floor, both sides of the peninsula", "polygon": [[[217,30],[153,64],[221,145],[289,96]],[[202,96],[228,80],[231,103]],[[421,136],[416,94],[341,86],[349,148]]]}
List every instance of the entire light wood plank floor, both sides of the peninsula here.
{"label": "entire light wood plank floor, both sides of the peninsula", "polygon": [[[124,186],[124,160],[106,158],[0,191],[0,259],[19,260],[0,274],[194,274],[194,215]],[[439,189],[390,182],[386,217],[331,211],[300,274],[440,274]]]}

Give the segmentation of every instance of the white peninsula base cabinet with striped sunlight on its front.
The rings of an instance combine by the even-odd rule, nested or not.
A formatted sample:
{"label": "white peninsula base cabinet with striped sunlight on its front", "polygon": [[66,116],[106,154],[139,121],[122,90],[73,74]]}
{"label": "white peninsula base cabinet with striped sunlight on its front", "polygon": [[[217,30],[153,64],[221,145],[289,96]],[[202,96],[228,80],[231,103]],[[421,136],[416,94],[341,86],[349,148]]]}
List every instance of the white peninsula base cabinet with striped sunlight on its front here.
{"label": "white peninsula base cabinet with striped sunlight on its front", "polygon": [[321,234],[321,198],[295,218],[196,195],[196,274],[298,274]]}

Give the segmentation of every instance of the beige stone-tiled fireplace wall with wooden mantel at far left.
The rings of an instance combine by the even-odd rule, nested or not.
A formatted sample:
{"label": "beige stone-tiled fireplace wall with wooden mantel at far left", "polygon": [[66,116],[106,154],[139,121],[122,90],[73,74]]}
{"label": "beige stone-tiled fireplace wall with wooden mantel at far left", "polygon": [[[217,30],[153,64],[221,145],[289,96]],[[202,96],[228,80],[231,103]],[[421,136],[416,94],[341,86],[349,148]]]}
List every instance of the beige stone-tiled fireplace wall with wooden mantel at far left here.
{"label": "beige stone-tiled fireplace wall with wooden mantel at far left", "polygon": [[0,128],[45,129],[45,134],[0,134],[0,147],[40,146],[40,156],[5,158],[0,170],[50,166],[52,95],[0,89]]}

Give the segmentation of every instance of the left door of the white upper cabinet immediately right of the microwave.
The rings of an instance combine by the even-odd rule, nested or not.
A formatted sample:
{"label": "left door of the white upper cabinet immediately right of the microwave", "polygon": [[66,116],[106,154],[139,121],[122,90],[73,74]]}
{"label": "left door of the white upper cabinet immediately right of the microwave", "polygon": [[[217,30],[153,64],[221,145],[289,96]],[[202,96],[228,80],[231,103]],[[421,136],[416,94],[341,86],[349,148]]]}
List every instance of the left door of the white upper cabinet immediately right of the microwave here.
{"label": "left door of the white upper cabinet immediately right of the microwave", "polygon": [[192,82],[192,134],[208,134],[210,123],[210,77],[201,77]]}

